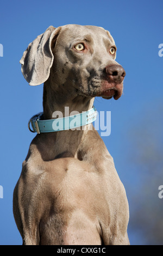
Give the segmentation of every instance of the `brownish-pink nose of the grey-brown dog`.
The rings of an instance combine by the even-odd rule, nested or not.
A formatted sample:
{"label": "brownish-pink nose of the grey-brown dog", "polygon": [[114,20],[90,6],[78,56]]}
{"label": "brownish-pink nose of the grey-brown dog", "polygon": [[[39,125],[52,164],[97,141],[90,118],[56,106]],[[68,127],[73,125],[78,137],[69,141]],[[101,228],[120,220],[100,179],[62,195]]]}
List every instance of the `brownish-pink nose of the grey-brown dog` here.
{"label": "brownish-pink nose of the grey-brown dog", "polygon": [[126,76],[126,72],[121,65],[106,66],[105,71],[110,82],[122,83]]}

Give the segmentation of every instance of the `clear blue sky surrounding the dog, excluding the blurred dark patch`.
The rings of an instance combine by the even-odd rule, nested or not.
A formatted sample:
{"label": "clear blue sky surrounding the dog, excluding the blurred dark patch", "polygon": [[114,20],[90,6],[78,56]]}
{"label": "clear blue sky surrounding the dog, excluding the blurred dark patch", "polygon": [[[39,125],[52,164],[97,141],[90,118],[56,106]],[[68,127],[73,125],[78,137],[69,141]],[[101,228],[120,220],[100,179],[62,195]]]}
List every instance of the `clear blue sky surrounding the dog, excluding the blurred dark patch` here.
{"label": "clear blue sky surrounding the dog, excluding the blurred dark patch", "polygon": [[[148,110],[152,109],[156,115],[158,106],[162,104],[163,57],[159,57],[158,52],[159,44],[163,44],[163,2],[6,0],[1,1],[0,5],[0,44],[3,45],[3,57],[0,57],[0,185],[3,187],[3,198],[0,198],[0,245],[22,243],[12,215],[12,193],[34,137],[28,131],[28,120],[42,111],[43,86],[28,85],[21,73],[19,60],[29,42],[50,25],[58,27],[73,23],[100,26],[109,30],[115,39],[116,61],[127,74],[124,93],[118,101],[98,98],[95,107],[98,111],[111,111],[111,135],[103,137],[103,140],[114,157],[132,208],[131,188],[138,177],[135,171],[129,171],[127,155],[132,151],[129,147],[134,145],[129,146],[126,137],[127,131],[135,124],[139,126]],[[162,129],[158,131],[158,126],[153,122],[151,130],[162,132]],[[162,204],[161,200],[159,204]],[[132,244],[141,243],[139,235],[130,227],[129,238]]]}

